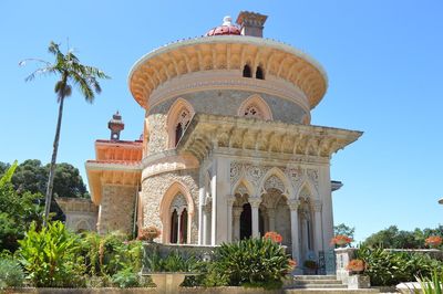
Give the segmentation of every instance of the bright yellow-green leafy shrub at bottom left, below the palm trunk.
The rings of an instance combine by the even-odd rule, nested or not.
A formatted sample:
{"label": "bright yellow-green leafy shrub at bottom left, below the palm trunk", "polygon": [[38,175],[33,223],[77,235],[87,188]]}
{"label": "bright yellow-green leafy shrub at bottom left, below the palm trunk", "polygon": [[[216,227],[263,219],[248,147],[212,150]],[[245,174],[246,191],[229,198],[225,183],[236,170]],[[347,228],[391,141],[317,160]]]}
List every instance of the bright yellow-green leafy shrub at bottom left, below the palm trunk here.
{"label": "bright yellow-green leafy shrub at bottom left, below the palm trunk", "polygon": [[41,231],[32,224],[19,241],[19,261],[35,286],[84,286],[84,259],[79,255],[78,235],[61,222],[49,223]]}

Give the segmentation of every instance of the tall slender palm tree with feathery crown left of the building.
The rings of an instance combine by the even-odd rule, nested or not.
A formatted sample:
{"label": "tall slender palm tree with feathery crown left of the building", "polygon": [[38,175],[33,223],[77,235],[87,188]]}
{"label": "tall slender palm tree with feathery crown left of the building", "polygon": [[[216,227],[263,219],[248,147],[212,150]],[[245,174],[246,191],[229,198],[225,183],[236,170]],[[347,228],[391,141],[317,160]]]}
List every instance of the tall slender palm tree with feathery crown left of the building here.
{"label": "tall slender palm tree with feathery crown left of the building", "polygon": [[86,102],[92,103],[94,101],[94,94],[100,94],[102,92],[97,78],[110,78],[103,71],[93,66],[81,64],[72,50],[68,50],[68,53],[63,54],[60,51],[60,45],[55,44],[53,41],[51,41],[48,51],[55,56],[55,61],[53,63],[40,59],[27,59],[20,62],[20,65],[24,65],[27,61],[34,61],[43,64],[42,67],[37,69],[24,80],[27,82],[34,80],[37,75],[41,74],[55,74],[59,77],[59,81],[55,83],[54,87],[59,103],[59,118],[56,120],[54,145],[49,171],[43,225],[48,224],[52,200],[52,187],[54,182],[56,151],[59,149],[64,98],[71,96],[72,85],[74,85],[81,91]]}

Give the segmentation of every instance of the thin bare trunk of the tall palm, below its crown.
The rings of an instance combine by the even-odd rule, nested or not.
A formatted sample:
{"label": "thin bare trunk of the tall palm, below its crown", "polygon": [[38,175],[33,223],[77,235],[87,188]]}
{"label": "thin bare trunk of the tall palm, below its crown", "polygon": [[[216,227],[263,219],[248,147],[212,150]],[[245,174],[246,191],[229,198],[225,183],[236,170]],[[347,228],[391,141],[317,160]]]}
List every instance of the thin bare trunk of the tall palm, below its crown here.
{"label": "thin bare trunk of the tall palm, below its crown", "polygon": [[50,212],[50,209],[51,209],[52,188],[54,186],[56,151],[59,150],[60,128],[62,126],[63,103],[64,103],[64,95],[62,95],[60,97],[59,118],[56,120],[55,138],[54,138],[54,145],[53,145],[53,150],[52,150],[51,165],[50,165],[50,168],[49,168],[47,197],[45,197],[45,202],[44,202],[43,227],[47,227],[47,224],[48,224],[49,212]]}

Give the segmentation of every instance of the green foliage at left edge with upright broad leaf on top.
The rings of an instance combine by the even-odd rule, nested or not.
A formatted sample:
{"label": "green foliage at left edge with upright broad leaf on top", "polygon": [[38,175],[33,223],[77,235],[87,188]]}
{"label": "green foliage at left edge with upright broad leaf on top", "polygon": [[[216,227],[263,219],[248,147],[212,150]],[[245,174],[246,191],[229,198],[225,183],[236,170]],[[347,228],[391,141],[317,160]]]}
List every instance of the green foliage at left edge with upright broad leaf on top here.
{"label": "green foliage at left edge with upright broad leaf on top", "polygon": [[0,251],[14,252],[30,223],[41,220],[42,210],[35,204],[41,196],[16,191],[11,182],[16,168],[17,162],[0,178]]}

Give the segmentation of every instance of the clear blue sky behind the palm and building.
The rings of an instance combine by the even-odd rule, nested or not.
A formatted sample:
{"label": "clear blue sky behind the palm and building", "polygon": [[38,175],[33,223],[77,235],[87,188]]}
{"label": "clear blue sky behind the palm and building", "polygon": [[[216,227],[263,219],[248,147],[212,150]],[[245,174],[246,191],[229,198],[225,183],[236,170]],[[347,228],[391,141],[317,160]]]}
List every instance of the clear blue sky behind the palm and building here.
{"label": "clear blue sky behind the palm and building", "polygon": [[240,10],[269,15],[265,36],[318,60],[329,90],[312,124],[363,130],[334,155],[334,221],[357,239],[396,224],[411,230],[443,223],[442,1],[0,1],[0,161],[51,157],[58,105],[55,77],[31,83],[51,40],[76,50],[112,80],[89,105],[76,92],[65,104],[58,161],[79,167],[94,158],[119,109],[123,139],[143,132],[143,109],[127,90],[132,64],[168,42],[198,36]]}

